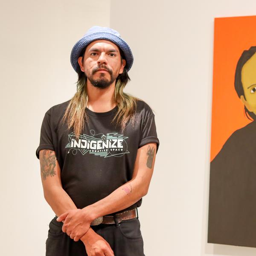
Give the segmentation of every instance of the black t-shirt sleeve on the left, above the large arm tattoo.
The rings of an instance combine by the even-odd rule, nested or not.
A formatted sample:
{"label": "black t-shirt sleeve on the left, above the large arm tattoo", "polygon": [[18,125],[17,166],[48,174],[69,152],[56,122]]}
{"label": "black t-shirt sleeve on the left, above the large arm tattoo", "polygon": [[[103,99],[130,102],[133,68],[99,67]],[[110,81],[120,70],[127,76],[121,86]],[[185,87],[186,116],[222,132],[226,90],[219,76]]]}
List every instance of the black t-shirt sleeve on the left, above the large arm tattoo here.
{"label": "black t-shirt sleeve on the left, above the large arm tattoo", "polygon": [[41,125],[40,132],[40,143],[38,148],[36,149],[36,157],[39,159],[39,151],[41,149],[51,149],[54,150],[53,142],[52,142],[52,130],[50,125],[51,119],[51,109],[49,109],[45,115]]}

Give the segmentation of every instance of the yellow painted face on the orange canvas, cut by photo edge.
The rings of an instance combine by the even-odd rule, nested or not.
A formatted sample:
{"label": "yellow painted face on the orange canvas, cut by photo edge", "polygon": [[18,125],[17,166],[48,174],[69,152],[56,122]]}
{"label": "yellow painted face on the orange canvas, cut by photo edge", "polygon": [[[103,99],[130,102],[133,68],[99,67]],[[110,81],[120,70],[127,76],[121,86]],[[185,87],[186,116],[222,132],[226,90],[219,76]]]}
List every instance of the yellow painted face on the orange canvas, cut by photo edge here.
{"label": "yellow painted face on the orange canvas, cut by photo edge", "polygon": [[244,96],[240,99],[248,111],[256,114],[256,53],[242,67],[241,82]]}

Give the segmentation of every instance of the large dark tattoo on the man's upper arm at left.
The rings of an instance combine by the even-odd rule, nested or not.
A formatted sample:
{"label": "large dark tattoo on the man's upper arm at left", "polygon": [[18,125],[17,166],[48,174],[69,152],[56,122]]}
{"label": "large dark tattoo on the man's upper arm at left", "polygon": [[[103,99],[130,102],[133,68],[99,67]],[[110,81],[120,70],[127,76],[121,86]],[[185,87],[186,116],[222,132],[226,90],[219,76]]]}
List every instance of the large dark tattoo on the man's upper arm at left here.
{"label": "large dark tattoo on the man's upper arm at left", "polygon": [[41,166],[41,175],[44,180],[48,176],[54,176],[56,172],[54,171],[54,168],[56,166],[56,156],[55,152],[52,150],[41,150],[40,151],[40,166]]}

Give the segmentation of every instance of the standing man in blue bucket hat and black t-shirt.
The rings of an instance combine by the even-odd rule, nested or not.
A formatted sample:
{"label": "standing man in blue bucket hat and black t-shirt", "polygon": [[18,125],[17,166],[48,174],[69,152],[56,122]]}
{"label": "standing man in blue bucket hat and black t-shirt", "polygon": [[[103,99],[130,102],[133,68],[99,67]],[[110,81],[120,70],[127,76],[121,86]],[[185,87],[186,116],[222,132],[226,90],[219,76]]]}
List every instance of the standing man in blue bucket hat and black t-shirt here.
{"label": "standing man in blue bucket hat and black t-shirt", "polygon": [[149,105],[123,92],[132,63],[130,47],[108,27],[93,26],[72,49],[77,92],[46,112],[36,150],[56,215],[47,256],[144,255],[137,207],[159,140]]}

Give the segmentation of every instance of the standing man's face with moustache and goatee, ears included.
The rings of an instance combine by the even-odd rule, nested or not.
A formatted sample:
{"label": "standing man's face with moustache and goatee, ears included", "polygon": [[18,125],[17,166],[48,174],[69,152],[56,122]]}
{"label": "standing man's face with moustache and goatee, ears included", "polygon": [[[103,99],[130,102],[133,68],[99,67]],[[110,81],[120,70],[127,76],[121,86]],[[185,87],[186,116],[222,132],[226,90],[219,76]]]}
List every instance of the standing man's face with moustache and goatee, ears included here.
{"label": "standing man's face with moustache and goatee, ears included", "polygon": [[101,89],[110,86],[125,67],[125,60],[121,64],[118,47],[108,40],[96,40],[88,44],[83,63],[81,61],[82,57],[79,57],[81,71],[93,86]]}

